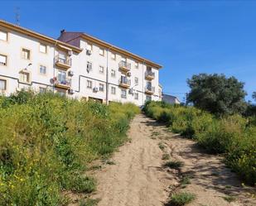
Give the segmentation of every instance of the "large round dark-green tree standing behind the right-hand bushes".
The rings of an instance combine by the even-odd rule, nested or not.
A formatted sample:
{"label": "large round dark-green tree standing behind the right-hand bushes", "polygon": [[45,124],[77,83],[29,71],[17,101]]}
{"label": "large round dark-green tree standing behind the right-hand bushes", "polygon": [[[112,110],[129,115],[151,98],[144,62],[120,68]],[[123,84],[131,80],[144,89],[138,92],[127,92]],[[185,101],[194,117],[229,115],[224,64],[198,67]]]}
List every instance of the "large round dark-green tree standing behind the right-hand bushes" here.
{"label": "large round dark-green tree standing behind the right-hand bushes", "polygon": [[246,109],[244,83],[224,74],[198,74],[187,79],[191,88],[188,103],[217,115],[243,113]]}

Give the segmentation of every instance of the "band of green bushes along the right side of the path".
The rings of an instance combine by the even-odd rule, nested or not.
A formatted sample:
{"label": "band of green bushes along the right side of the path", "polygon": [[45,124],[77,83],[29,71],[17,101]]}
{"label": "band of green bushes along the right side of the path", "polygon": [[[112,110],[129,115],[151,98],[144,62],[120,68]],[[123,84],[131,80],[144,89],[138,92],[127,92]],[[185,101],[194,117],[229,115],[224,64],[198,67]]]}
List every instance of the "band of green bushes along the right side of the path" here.
{"label": "band of green bushes along the right side of the path", "polygon": [[195,139],[225,162],[248,184],[256,184],[256,117],[215,117],[194,107],[148,102],[147,116],[164,122],[172,132]]}

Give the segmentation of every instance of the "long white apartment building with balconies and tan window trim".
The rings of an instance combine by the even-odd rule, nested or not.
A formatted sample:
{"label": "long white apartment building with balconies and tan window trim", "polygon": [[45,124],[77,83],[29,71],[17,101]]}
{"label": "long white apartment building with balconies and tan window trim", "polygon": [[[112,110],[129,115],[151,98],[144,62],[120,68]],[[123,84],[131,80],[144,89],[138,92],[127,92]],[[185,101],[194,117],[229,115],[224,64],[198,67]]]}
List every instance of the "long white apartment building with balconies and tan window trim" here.
{"label": "long white apartment building with balconies and tan window trim", "polygon": [[102,103],[159,100],[160,65],[83,32],[56,40],[0,20],[0,91],[51,90]]}

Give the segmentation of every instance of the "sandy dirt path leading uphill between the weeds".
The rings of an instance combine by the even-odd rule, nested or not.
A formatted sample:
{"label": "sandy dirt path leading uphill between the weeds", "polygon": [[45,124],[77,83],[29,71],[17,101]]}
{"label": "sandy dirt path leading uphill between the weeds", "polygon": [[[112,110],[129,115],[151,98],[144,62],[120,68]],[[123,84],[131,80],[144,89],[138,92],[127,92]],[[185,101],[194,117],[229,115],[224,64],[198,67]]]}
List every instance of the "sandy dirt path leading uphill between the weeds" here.
{"label": "sandy dirt path leading uphill between the weeds", "polygon": [[[99,186],[93,198],[100,199],[99,206],[160,206],[179,191],[196,194],[189,206],[256,205],[255,189],[242,187],[220,156],[205,154],[194,141],[143,115],[134,118],[128,136],[131,141],[114,154],[114,165],[94,172]],[[183,161],[181,171],[163,169],[163,154]],[[190,184],[181,184],[184,176]]]}

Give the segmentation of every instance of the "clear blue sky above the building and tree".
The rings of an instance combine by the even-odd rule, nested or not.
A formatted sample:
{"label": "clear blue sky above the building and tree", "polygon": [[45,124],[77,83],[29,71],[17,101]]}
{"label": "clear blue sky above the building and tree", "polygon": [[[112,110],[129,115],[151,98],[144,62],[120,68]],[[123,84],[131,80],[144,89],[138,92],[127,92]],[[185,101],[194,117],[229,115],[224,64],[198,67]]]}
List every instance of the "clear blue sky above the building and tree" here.
{"label": "clear blue sky above the building and tree", "polygon": [[256,1],[7,1],[0,18],[48,36],[85,31],[153,60],[181,100],[192,74],[234,75],[256,91]]}

